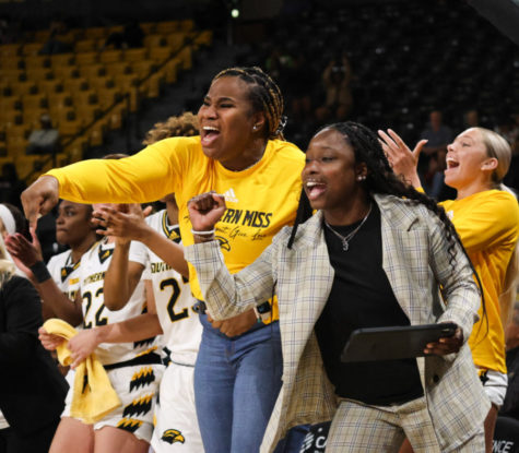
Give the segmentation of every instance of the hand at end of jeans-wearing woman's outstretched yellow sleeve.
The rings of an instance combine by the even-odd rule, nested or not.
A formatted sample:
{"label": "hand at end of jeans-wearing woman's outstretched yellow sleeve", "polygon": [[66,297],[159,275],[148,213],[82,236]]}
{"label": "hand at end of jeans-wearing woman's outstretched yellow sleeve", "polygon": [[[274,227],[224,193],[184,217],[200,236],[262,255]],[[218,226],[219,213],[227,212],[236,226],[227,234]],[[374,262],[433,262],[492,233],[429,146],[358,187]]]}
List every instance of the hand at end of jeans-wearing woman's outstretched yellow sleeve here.
{"label": "hand at end of jeans-wearing woman's outstretched yellow sleeve", "polygon": [[30,226],[36,229],[39,216],[47,214],[58,204],[58,180],[52,176],[43,176],[22,192],[21,199],[25,217]]}

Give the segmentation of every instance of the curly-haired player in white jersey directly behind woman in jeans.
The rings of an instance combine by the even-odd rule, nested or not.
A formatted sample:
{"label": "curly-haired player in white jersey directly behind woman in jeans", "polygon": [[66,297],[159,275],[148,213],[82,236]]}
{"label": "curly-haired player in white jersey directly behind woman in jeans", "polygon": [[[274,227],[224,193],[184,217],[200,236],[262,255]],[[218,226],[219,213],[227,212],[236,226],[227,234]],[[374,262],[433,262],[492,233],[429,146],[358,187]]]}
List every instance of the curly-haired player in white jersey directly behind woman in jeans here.
{"label": "curly-haired player in white jersey directly behind woman in jeans", "polygon": [[[169,118],[164,123],[155,124],[144,144],[151,144],[166,136],[192,135],[198,131],[196,120],[193,115],[184,114],[181,117]],[[164,250],[165,242],[180,243],[175,196],[170,194],[161,201],[166,203],[166,208],[149,216],[145,222],[140,215],[140,210],[133,211],[133,215],[129,213],[127,218],[132,218],[132,223],[127,223],[120,229],[120,234],[126,234],[127,238],[128,235],[130,238],[132,235],[146,237],[146,243],[157,252]],[[110,211],[114,213],[114,210]],[[167,363],[155,407],[156,425],[152,446],[156,453],[203,453],[193,392],[194,362],[202,326],[198,314],[191,308],[196,300],[191,296],[186,278],[187,264],[184,260],[178,264],[177,269],[184,274],[181,275],[151,249],[148,249],[148,253],[149,262],[142,279],[146,282],[149,298],[151,295],[154,299]],[[120,294],[120,287],[128,279],[126,263],[123,260],[119,261],[118,257],[115,258],[117,261],[115,259],[111,266],[117,263],[119,272],[116,275],[110,270],[106,283],[113,283],[114,294],[117,289]],[[114,282],[108,282],[111,277]],[[106,286],[108,298],[111,288]],[[142,324],[140,329],[143,329]],[[155,334],[153,330],[149,333]]]}

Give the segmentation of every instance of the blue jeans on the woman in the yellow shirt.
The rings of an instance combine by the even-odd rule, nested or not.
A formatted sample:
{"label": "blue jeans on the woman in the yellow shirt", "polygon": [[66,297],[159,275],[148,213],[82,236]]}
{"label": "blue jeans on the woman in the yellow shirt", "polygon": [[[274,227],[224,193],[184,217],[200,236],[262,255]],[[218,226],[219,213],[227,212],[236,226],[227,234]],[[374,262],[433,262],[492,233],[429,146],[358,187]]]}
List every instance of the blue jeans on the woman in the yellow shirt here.
{"label": "blue jeans on the woman in the yellow shirt", "polygon": [[229,338],[200,321],[194,403],[205,453],[258,452],[281,389],[279,322]]}

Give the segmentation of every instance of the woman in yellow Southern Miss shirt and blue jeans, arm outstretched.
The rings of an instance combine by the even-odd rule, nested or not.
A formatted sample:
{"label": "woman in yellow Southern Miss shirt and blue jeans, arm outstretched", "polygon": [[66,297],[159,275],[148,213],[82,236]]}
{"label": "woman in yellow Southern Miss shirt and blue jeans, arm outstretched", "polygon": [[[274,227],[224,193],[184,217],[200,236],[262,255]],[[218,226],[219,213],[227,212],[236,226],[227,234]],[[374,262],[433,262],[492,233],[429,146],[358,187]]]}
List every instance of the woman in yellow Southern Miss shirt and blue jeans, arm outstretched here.
{"label": "woman in yellow Southern Miss shirt and blue jeans, arm outstretched", "polygon": [[[165,139],[117,162],[86,160],[51,170],[22,195],[25,213],[34,225],[58,196],[121,203],[175,193],[182,242],[190,245],[205,233],[191,229],[187,202],[214,190],[228,203],[216,236],[228,267],[238,272],[295,219],[304,154],[283,140],[282,114],[280,88],[261,69],[224,70],[198,112],[200,136]],[[190,285],[202,299],[192,267]],[[263,302],[261,313],[250,309],[223,322],[200,317],[194,385],[207,453],[259,449],[281,388],[282,363],[276,302],[272,295]]]}

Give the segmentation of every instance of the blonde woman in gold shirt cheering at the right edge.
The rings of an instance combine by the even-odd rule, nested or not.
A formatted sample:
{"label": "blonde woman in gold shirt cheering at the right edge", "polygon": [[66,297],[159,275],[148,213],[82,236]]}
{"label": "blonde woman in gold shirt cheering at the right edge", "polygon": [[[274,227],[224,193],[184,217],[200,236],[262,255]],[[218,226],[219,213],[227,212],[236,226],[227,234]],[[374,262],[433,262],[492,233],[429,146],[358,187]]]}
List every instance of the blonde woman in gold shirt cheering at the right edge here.
{"label": "blonde woman in gold shirt cheering at the right edge", "polygon": [[[379,131],[384,150],[394,172],[420,187],[416,163],[421,141],[411,151],[389,130]],[[485,305],[474,324],[469,345],[492,408],[485,420],[486,452],[492,440],[497,410],[506,388],[504,324],[511,312],[517,277],[519,207],[516,196],[503,186],[511,151],[506,140],[488,129],[470,128],[447,146],[445,183],[457,190],[456,200],[441,203],[458,231],[481,278]]]}

